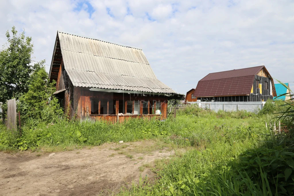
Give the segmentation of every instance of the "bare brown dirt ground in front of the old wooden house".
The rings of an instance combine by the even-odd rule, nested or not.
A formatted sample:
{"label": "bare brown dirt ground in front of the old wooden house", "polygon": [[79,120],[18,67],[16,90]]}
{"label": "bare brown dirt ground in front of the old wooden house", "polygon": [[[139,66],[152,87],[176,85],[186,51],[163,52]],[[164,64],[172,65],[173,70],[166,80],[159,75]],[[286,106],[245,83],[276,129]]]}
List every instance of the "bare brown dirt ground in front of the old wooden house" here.
{"label": "bare brown dirt ground in front of the old wooden house", "polygon": [[152,142],[112,143],[55,154],[0,153],[0,195],[117,193],[122,186],[138,182],[140,175],[154,178],[148,168],[140,172],[140,166],[174,154],[167,148],[145,149],[155,147]]}

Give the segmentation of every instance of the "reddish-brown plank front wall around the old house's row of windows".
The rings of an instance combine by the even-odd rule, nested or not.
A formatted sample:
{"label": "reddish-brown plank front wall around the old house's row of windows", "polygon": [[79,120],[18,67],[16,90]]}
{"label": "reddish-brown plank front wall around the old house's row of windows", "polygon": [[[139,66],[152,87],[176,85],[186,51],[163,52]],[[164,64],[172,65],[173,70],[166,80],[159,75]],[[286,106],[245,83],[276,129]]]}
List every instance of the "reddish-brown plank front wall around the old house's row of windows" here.
{"label": "reddish-brown plank front wall around the old house's row of windows", "polygon": [[[91,114],[91,99],[95,98],[99,100],[99,112],[98,114]],[[107,109],[109,109],[109,100],[115,100],[115,112],[116,114],[100,114],[100,104],[101,100],[108,100],[107,102]],[[123,100],[122,104],[125,106],[125,110],[123,111],[126,113],[126,100],[133,101],[140,101],[140,114],[139,115],[118,115],[119,112],[119,102]],[[156,114],[146,114],[143,115],[143,101],[149,101],[153,103],[153,101],[160,101],[161,103],[161,115]],[[74,110],[73,116],[76,119],[81,121],[90,119],[90,120],[106,120],[112,123],[117,121],[123,122],[130,118],[147,118],[151,119],[153,117],[158,119],[166,119],[167,118],[167,99],[164,96],[141,96],[137,94],[123,94],[123,93],[105,93],[105,92],[98,92],[98,91],[90,91],[88,88],[83,87],[74,87],[73,93],[71,96],[71,104],[72,110]],[[133,105],[134,107],[134,105]],[[134,111],[134,108],[132,109]],[[151,113],[151,111],[149,111]],[[154,110],[155,112],[155,110]],[[107,113],[109,111],[107,110]],[[73,117],[72,116],[72,117]]]}

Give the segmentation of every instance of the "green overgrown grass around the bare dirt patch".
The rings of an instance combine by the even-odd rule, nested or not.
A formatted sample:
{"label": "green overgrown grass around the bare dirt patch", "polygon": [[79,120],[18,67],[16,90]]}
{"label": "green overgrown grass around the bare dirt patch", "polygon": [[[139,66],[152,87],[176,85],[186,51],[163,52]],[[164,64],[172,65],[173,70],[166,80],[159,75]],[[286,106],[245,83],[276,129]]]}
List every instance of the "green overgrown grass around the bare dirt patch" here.
{"label": "green overgrown grass around the bare dirt patch", "polygon": [[[149,183],[143,177],[140,183],[134,184],[131,189],[122,188],[120,195],[289,193],[292,190],[288,185],[293,181],[292,162],[287,162],[290,158],[283,160],[289,163],[285,164],[285,167],[276,168],[277,171],[283,172],[284,180],[280,180],[280,174],[270,177],[269,175],[273,175],[268,169],[270,164],[262,165],[260,161],[261,155],[268,159],[275,155],[278,156],[277,161],[281,161],[279,155],[274,153],[277,152],[277,146],[280,153],[288,152],[289,156],[293,153],[293,150],[287,151],[285,144],[277,145],[270,131],[265,128],[265,121],[269,122],[271,118],[270,115],[256,115],[244,111],[215,113],[187,107],[177,112],[176,119],[170,117],[164,122],[136,119],[121,124],[67,121],[28,124],[23,127],[22,137],[6,131],[2,125],[0,149],[52,152],[119,140],[131,142],[156,139],[169,147],[188,150],[171,159],[157,160],[151,168],[157,175],[155,182]],[[260,150],[263,148],[263,151]],[[275,150],[270,151],[271,149]],[[268,160],[263,161],[268,163]],[[148,165],[148,168],[150,167]],[[257,170],[254,170],[255,168]],[[144,167],[141,170],[144,170]],[[288,174],[284,170],[291,173]],[[272,178],[274,181],[270,181]],[[280,181],[285,182],[285,186],[278,187]]]}

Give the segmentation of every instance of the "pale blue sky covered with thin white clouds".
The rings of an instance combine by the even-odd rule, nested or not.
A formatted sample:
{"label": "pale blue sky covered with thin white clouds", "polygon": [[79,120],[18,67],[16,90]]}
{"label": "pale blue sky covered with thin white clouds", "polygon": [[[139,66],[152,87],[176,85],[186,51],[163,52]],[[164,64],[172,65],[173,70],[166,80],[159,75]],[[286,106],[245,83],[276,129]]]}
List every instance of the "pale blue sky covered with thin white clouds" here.
{"label": "pale blue sky covered with thin white clouds", "polygon": [[[179,93],[208,73],[265,65],[294,89],[293,1],[0,1],[0,44],[16,26],[51,63],[57,30],[142,48]],[[49,71],[49,66],[46,66]]]}

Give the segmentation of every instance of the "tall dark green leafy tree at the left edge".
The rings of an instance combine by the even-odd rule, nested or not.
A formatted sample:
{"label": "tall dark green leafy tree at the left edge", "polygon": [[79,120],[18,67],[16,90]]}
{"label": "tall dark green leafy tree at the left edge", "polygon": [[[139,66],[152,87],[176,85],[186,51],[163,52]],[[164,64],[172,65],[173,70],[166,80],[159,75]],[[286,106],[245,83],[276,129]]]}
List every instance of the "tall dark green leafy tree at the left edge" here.
{"label": "tall dark green leafy tree at the left edge", "polygon": [[18,99],[28,91],[29,77],[34,71],[30,65],[33,53],[31,37],[26,37],[24,31],[17,34],[15,26],[6,32],[9,46],[3,46],[0,51],[0,102],[15,97]]}

